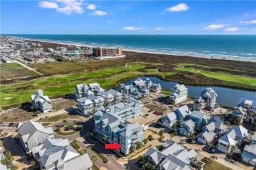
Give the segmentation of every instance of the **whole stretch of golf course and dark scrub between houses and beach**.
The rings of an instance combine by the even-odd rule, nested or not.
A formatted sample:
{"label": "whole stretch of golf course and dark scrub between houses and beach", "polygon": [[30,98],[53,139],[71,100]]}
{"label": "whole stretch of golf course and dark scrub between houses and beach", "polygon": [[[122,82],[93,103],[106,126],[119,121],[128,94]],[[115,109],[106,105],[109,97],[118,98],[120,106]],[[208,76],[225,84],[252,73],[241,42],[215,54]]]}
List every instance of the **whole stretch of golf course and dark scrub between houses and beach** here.
{"label": "whole stretch of golf course and dark scrub between houses and beach", "polygon": [[42,89],[49,97],[58,97],[74,93],[76,84],[98,82],[102,88],[110,89],[138,76],[156,76],[193,86],[223,86],[256,91],[255,63],[184,56],[185,60],[183,56],[125,53],[126,58],[105,61],[30,65],[45,77],[1,86],[1,107],[7,109],[29,102],[30,95],[38,89]]}

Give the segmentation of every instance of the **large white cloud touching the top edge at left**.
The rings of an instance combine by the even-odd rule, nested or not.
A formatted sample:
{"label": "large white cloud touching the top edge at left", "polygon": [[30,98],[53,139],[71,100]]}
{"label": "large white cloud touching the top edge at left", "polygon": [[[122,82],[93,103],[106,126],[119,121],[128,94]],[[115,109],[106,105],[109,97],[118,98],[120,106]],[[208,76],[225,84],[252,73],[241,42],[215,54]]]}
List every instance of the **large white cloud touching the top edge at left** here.
{"label": "large white cloud touching the top edge at left", "polygon": [[45,9],[56,9],[57,12],[64,14],[81,14],[83,13],[83,0],[53,0],[41,1],[39,7]]}

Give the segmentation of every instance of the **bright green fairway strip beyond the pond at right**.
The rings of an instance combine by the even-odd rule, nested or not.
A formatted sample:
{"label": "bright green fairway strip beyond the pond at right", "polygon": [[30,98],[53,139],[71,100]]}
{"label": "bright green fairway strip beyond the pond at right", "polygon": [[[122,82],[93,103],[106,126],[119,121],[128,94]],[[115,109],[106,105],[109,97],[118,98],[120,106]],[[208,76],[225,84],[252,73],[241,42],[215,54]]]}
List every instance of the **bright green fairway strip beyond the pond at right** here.
{"label": "bright green fairway strip beyond the pond at right", "polygon": [[177,71],[188,71],[192,73],[200,73],[205,76],[209,76],[211,78],[216,78],[218,80],[224,80],[228,82],[239,82],[242,84],[248,84],[256,86],[256,78],[251,78],[247,76],[237,76],[237,75],[228,75],[223,73],[216,73],[216,72],[210,72],[210,71],[202,71],[197,69],[190,69],[190,68],[184,68],[184,67],[177,67]]}

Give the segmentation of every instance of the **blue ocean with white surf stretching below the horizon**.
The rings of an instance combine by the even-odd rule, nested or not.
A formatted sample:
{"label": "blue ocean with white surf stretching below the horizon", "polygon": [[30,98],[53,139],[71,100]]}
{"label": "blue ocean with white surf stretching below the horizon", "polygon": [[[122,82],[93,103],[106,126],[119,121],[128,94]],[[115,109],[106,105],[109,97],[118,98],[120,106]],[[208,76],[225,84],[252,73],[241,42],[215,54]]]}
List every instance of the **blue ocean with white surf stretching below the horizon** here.
{"label": "blue ocean with white surf stretching below the horizon", "polygon": [[256,35],[9,35],[123,50],[256,61]]}

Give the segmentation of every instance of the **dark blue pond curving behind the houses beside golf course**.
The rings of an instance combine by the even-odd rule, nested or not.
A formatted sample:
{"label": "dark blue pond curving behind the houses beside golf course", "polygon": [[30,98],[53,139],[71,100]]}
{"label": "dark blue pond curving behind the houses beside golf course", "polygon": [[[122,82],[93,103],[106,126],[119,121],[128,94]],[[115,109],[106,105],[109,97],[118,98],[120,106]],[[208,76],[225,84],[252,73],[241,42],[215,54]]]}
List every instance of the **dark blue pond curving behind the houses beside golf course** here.
{"label": "dark blue pond curving behind the houses beside golf course", "polygon": [[[142,78],[143,80],[146,79],[146,77],[140,77],[140,78]],[[148,78],[150,78],[150,80],[152,80],[152,82],[154,83],[160,83],[161,88],[163,90],[171,91],[171,88],[173,88],[173,86],[177,84],[177,82],[165,81],[157,77],[148,77]],[[135,80],[137,80],[137,78],[134,78],[127,82],[123,82],[123,84],[125,85],[132,84],[133,81]],[[238,105],[238,100],[242,96],[256,98],[256,92],[249,92],[246,90],[236,90],[232,88],[221,88],[216,86],[188,86],[188,85],[185,85],[185,86],[186,88],[188,88],[188,96],[194,97],[194,98],[199,97],[201,92],[205,90],[205,88],[213,88],[213,90],[215,90],[215,92],[218,95],[217,103],[219,105],[223,105],[227,107],[236,107]],[[118,86],[116,90],[120,91],[120,86]]]}

